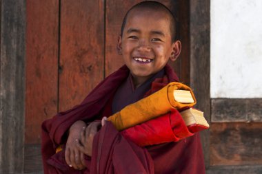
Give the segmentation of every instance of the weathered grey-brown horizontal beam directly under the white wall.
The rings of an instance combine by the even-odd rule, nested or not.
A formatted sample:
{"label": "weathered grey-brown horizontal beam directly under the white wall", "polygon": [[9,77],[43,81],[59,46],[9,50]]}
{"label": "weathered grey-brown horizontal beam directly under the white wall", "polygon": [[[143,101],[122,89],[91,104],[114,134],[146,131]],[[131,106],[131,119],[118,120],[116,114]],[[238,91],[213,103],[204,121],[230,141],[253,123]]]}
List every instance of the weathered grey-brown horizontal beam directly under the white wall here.
{"label": "weathered grey-brown horizontal beam directly under the white wall", "polygon": [[262,122],[262,98],[214,98],[212,122]]}

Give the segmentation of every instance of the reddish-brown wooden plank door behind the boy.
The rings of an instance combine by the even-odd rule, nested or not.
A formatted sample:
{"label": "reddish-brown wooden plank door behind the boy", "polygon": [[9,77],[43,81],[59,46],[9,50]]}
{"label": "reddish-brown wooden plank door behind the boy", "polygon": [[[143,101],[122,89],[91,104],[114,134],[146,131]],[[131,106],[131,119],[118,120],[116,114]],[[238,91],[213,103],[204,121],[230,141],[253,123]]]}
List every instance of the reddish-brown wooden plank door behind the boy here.
{"label": "reddish-brown wooden plank door behind the boy", "polygon": [[[121,22],[140,1],[26,1],[26,173],[41,171],[41,122],[79,104],[123,65]],[[177,15],[183,50],[172,67],[189,84],[188,1],[160,2]]]}

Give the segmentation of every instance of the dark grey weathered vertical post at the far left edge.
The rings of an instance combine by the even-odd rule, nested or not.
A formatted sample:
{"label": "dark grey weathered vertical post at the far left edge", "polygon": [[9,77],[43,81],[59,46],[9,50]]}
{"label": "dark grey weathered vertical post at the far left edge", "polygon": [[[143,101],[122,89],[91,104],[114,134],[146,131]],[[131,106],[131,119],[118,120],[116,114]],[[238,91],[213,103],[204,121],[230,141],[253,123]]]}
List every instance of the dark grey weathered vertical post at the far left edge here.
{"label": "dark grey weathered vertical post at the far left edge", "polygon": [[23,173],[26,1],[1,1],[0,173]]}

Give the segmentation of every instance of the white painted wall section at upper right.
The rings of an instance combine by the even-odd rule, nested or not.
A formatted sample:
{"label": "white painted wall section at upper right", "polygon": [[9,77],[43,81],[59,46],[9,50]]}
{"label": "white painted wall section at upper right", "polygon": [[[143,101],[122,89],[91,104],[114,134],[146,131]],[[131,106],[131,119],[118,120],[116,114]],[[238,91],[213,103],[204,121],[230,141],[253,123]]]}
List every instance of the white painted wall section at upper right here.
{"label": "white painted wall section at upper right", "polygon": [[211,0],[211,98],[262,98],[262,0]]}

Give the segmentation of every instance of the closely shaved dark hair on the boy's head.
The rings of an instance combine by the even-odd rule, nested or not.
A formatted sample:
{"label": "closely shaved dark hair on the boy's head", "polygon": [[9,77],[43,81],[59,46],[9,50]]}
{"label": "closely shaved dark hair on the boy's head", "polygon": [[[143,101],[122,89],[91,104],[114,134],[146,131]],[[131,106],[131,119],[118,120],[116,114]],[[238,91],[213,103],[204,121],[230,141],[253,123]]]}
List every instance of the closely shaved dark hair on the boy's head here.
{"label": "closely shaved dark hair on the boy's head", "polygon": [[121,26],[121,36],[123,35],[123,30],[125,29],[125,23],[128,21],[128,17],[131,12],[134,10],[144,11],[149,10],[152,12],[163,12],[167,14],[169,21],[170,21],[170,35],[172,42],[176,41],[176,21],[174,19],[174,15],[172,12],[164,6],[162,3],[159,3],[157,1],[143,1],[141,3],[137,3],[136,5],[132,6],[130,10],[125,14],[125,17],[123,19],[123,23]]}

